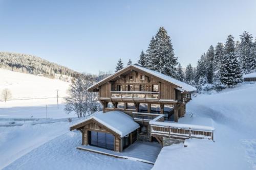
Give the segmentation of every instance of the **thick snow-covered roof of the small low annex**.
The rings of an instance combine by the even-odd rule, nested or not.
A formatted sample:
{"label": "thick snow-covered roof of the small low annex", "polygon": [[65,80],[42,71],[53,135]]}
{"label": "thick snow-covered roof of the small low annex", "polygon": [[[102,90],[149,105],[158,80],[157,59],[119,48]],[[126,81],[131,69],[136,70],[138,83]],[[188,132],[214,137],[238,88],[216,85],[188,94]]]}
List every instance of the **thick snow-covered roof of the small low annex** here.
{"label": "thick snow-covered roof of the small low annex", "polygon": [[76,124],[73,124],[72,126],[70,126],[70,128],[87,122],[90,119],[94,119],[103,126],[111,129],[112,131],[119,134],[120,137],[124,137],[140,127],[139,124],[134,122],[131,116],[121,111],[110,111],[106,113],[93,114],[89,118],[84,119]]}

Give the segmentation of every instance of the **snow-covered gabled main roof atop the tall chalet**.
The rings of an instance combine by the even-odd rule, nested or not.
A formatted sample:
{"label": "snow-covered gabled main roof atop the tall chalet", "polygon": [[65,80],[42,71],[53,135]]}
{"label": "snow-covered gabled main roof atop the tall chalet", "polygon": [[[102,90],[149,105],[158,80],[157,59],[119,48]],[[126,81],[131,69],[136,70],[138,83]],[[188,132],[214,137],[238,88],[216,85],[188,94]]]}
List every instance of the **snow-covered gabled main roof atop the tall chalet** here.
{"label": "snow-covered gabled main roof atop the tall chalet", "polygon": [[98,83],[92,85],[92,86],[89,87],[88,89],[89,89],[89,90],[92,90],[93,88],[98,87],[98,85],[101,84],[102,82],[105,82],[105,81],[107,81],[107,80],[110,80],[110,79],[114,78],[116,75],[119,75],[119,74],[120,74],[121,72],[123,72],[124,70],[131,70],[132,68],[137,68],[137,69],[139,69],[139,70],[141,70],[141,71],[147,72],[147,74],[149,74],[149,75],[158,77],[158,78],[160,78],[160,79],[162,79],[162,80],[165,80],[165,81],[167,81],[167,82],[169,82],[169,83],[172,83],[172,84],[178,86],[177,89],[180,90],[180,91],[182,91],[182,92],[183,92],[183,91],[191,92],[191,91],[196,91],[196,90],[197,90],[196,87],[190,86],[189,84],[186,84],[186,83],[181,82],[181,81],[179,81],[179,80],[176,80],[176,79],[174,79],[174,78],[172,78],[172,77],[169,77],[169,76],[166,76],[166,75],[164,75],[164,74],[161,74],[160,72],[153,71],[153,70],[151,70],[151,69],[147,69],[147,68],[141,67],[141,66],[139,66],[138,64],[132,64],[132,65],[126,66],[126,67],[120,69],[119,71],[115,72],[115,74],[110,75],[110,76],[106,77],[105,79],[102,79],[102,80],[99,81]]}

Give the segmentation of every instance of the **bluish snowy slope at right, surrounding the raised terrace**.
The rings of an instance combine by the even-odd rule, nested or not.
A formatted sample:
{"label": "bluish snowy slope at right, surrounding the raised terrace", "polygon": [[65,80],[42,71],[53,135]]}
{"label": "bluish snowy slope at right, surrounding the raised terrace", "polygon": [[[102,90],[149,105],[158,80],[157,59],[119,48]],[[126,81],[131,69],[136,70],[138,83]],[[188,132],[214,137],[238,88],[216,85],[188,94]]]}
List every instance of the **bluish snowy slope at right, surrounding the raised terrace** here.
{"label": "bluish snowy slope at right, surrounding the raised terrace", "polygon": [[[244,82],[187,104],[182,123],[212,119],[215,142],[189,139],[164,147],[153,169],[256,169],[256,83]],[[193,113],[193,117],[188,117]],[[171,161],[170,161],[171,160]]]}

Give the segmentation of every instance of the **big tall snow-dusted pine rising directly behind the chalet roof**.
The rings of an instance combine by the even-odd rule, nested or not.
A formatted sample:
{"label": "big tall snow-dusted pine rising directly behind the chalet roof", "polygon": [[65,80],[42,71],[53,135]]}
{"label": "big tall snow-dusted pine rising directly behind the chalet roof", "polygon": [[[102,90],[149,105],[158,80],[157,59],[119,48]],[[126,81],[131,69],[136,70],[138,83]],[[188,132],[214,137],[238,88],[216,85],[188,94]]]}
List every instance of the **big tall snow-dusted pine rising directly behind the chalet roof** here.
{"label": "big tall snow-dusted pine rising directly behind the chalet roof", "polygon": [[160,27],[156,36],[156,53],[151,58],[152,70],[161,72],[164,75],[175,77],[177,57],[174,56],[173,44],[167,31]]}

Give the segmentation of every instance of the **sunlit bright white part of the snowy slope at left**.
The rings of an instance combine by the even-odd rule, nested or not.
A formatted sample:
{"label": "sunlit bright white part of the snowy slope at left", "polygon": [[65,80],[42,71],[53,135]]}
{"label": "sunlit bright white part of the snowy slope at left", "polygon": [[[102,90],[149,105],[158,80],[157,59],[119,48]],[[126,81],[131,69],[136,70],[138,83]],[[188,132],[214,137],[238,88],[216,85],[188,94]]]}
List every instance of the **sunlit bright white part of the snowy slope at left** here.
{"label": "sunlit bright white part of the snowy slope at left", "polygon": [[39,99],[43,98],[48,98],[48,100],[45,100],[46,103],[43,104],[56,104],[56,99],[54,101],[51,100],[57,97],[56,90],[59,90],[60,97],[66,96],[66,91],[70,85],[68,82],[23,74],[2,68],[0,68],[0,78],[0,92],[8,88],[12,93],[10,101],[6,103],[0,102],[0,107],[26,105],[31,102],[28,99],[38,99],[39,101]]}

